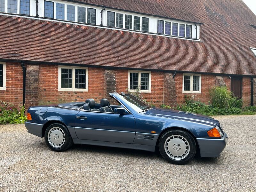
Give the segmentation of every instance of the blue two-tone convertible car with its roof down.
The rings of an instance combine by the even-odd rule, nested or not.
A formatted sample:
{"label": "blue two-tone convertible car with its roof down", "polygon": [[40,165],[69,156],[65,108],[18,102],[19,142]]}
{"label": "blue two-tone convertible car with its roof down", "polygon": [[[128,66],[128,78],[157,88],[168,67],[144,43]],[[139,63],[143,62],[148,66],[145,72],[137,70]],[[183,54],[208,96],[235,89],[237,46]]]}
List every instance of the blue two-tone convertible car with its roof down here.
{"label": "blue two-tone convertible car with its roof down", "polygon": [[109,93],[119,105],[94,99],[30,107],[28,132],[44,137],[53,151],[73,143],[155,151],[170,163],[188,163],[196,154],[220,156],[228,136],[216,119],[171,109],[152,108],[131,94]]}

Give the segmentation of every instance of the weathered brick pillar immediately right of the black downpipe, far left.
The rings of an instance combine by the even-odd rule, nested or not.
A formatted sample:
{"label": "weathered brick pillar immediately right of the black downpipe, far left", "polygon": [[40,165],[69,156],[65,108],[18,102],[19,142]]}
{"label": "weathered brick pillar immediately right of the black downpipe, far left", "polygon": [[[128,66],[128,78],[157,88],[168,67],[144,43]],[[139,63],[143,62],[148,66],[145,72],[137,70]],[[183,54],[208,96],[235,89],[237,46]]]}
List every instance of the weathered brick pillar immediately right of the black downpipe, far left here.
{"label": "weathered brick pillar immediately right of the black downpipe, far left", "polygon": [[38,105],[38,65],[27,65],[26,73],[26,109]]}

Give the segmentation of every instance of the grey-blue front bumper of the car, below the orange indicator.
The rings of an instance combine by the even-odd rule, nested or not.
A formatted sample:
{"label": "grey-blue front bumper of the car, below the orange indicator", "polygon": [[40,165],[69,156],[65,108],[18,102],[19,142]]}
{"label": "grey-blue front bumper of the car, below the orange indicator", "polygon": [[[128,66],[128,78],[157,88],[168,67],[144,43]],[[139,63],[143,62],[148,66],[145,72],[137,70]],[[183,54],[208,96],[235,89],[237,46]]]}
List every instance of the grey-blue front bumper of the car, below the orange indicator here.
{"label": "grey-blue front bumper of the car, below the orange indicator", "polygon": [[218,157],[228,142],[228,135],[224,132],[221,139],[196,138],[201,157]]}

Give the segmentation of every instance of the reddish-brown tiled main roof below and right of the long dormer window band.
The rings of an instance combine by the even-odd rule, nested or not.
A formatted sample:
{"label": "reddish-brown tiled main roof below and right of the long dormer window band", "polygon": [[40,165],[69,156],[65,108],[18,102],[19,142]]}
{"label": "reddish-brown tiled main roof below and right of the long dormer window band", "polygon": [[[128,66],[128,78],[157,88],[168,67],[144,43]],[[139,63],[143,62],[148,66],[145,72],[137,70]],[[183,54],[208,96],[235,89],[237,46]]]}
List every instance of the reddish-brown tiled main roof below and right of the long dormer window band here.
{"label": "reddish-brown tiled main roof below and right of the long dormer window band", "polygon": [[0,59],[256,75],[249,8],[240,0],[183,1],[204,23],[201,41],[0,15]]}

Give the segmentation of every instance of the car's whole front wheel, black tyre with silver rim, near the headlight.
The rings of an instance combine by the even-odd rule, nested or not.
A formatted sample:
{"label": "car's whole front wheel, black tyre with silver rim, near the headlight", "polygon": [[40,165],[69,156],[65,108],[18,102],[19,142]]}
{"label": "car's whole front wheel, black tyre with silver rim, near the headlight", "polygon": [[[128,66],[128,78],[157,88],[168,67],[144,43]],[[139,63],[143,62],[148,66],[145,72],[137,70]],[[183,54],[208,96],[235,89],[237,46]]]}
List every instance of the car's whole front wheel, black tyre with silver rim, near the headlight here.
{"label": "car's whole front wheel, black tyre with silver rim, near the headlight", "polygon": [[187,164],[196,154],[196,142],[183,130],[170,130],[159,139],[160,154],[173,164]]}

